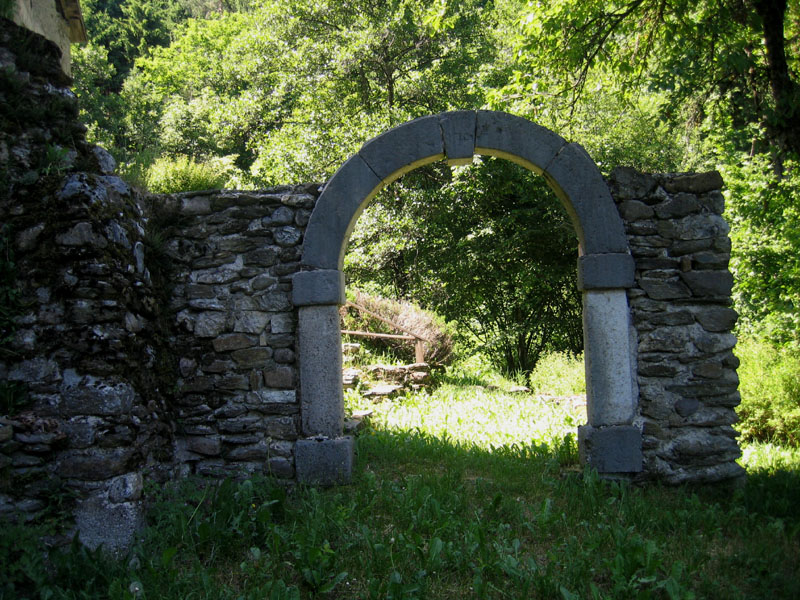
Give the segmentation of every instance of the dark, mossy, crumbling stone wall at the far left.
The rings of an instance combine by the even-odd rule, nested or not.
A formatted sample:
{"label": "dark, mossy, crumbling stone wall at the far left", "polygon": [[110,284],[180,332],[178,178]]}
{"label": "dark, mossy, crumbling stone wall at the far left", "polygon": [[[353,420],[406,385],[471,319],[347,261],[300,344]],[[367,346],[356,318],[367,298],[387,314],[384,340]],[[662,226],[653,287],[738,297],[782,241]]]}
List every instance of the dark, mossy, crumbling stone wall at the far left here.
{"label": "dark, mossy, crumbling stone wall at the far left", "polygon": [[145,219],[52,43],[0,20],[0,514],[130,540],[172,419]]}

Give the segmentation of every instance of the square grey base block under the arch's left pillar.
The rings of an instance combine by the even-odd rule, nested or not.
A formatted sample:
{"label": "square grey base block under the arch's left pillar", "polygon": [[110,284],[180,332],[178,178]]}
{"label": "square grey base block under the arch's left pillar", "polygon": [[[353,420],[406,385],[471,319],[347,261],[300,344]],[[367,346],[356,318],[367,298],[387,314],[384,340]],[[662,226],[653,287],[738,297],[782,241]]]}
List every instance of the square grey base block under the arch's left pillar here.
{"label": "square grey base block under the arch's left pillar", "polygon": [[342,485],[353,474],[353,438],[297,440],[294,449],[297,481],[309,485]]}

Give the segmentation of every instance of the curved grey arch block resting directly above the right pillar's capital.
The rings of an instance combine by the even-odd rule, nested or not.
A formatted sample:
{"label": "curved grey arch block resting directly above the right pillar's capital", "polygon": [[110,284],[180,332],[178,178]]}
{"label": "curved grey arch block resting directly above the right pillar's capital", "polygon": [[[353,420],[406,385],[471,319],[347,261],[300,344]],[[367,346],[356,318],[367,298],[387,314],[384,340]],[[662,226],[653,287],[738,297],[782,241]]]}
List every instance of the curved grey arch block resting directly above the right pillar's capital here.
{"label": "curved grey arch block resting directly above the right pillar's capital", "polygon": [[622,219],[608,186],[579,144],[561,148],[544,176],[572,218],[585,254],[628,252]]}

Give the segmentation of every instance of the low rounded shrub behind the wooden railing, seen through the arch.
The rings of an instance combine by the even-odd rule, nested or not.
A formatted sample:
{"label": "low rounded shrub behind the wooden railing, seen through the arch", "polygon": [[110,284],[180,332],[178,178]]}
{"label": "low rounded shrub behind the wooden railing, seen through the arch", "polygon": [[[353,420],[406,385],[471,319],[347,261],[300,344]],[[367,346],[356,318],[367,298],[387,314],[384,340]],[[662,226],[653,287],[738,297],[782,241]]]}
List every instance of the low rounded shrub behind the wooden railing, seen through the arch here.
{"label": "low rounded shrub behind the wooden railing, seen through the arch", "polygon": [[[430,343],[425,343],[425,360],[427,362],[444,364],[452,358],[453,335],[443,319],[436,314],[423,310],[411,302],[382,298],[358,290],[348,290],[347,296],[350,302],[363,306],[370,312],[398,324],[406,331],[432,340]],[[352,307],[342,307],[341,315],[342,329],[372,333],[400,333],[380,319]],[[407,340],[359,337],[358,342],[373,352],[390,353],[398,360],[405,362],[414,360],[414,343]]]}

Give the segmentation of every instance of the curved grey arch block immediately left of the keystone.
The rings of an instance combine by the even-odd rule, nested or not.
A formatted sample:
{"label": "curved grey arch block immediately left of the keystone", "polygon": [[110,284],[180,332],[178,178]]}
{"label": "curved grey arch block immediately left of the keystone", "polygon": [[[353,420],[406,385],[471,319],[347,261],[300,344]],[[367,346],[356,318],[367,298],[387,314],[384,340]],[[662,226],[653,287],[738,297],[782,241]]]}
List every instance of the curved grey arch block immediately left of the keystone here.
{"label": "curved grey arch block immediately left of the keystone", "polygon": [[444,158],[444,141],[437,116],[403,123],[368,141],[358,155],[384,183]]}

